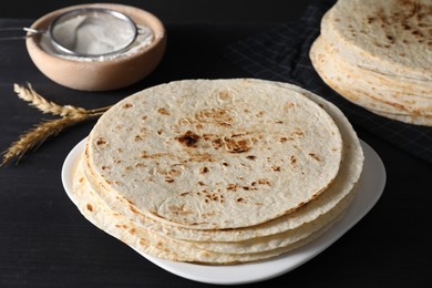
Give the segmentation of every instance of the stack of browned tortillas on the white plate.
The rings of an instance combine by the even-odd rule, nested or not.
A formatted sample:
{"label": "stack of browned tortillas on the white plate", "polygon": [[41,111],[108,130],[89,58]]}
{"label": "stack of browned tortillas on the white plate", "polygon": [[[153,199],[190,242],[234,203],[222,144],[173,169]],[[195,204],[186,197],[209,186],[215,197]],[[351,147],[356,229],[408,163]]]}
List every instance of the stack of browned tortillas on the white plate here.
{"label": "stack of browned tortillas on the white plate", "polygon": [[91,223],[142,254],[237,264],[319,237],[343,217],[362,166],[350,123],[306,90],[185,80],[99,120],[73,196]]}

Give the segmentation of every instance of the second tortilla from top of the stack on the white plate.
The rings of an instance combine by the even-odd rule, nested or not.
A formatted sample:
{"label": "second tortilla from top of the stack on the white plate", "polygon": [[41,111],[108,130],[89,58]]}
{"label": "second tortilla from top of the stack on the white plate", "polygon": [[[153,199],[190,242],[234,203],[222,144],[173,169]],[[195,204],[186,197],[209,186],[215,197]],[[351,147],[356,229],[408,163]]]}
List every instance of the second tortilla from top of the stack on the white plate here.
{"label": "second tortilla from top of the stack on the white plate", "polygon": [[95,179],[91,178],[91,175],[85,174],[86,181],[91,183],[91,186],[102,198],[102,200],[114,212],[125,215],[133,219],[141,226],[144,226],[155,233],[163,234],[167,237],[184,239],[184,240],[214,240],[214,241],[233,241],[233,240],[246,240],[255,237],[263,237],[272,235],[289,229],[297,228],[305,223],[312,222],[320,217],[320,215],[329,212],[336,206],[343,197],[346,197],[352,189],[354,183],[360,176],[362,168],[363,155],[359,140],[352,126],[343,114],[331,103],[322,100],[321,97],[299,89],[298,86],[290,84],[282,84],[277,82],[265,82],[258,80],[249,80],[255,83],[271,83],[279,85],[282,89],[296,90],[298,93],[311,99],[318,103],[327,113],[335,120],[338,128],[342,135],[343,141],[343,162],[341,164],[338,176],[333,183],[328,187],[328,193],[323,193],[312,203],[299,208],[298,210],[278,217],[274,220],[266,222],[260,225],[244,227],[241,229],[218,229],[218,230],[203,230],[203,229],[187,229],[183,227],[175,227],[160,222],[153,217],[147,217],[144,214],[137,213],[137,208],[124,198],[117,197],[116,194],[110,193],[97,184]]}

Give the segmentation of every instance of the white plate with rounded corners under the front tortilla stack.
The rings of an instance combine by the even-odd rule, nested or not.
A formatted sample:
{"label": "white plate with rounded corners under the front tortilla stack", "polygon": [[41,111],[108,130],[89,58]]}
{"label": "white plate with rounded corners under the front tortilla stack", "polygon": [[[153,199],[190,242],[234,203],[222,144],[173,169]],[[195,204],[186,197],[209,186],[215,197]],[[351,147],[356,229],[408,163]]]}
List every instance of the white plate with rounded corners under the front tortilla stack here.
{"label": "white plate with rounded corners under the front tortilla stack", "polygon": [[[71,194],[72,174],[78,156],[84,148],[81,141],[68,155],[62,168],[64,189]],[[364,168],[359,181],[359,192],[346,216],[318,239],[279,257],[241,265],[205,266],[163,260],[142,254],[163,269],[181,277],[209,284],[238,285],[261,281],[286,274],[310,260],[356,225],[378,202],[385,185],[385,168],[378,154],[364,142]]]}

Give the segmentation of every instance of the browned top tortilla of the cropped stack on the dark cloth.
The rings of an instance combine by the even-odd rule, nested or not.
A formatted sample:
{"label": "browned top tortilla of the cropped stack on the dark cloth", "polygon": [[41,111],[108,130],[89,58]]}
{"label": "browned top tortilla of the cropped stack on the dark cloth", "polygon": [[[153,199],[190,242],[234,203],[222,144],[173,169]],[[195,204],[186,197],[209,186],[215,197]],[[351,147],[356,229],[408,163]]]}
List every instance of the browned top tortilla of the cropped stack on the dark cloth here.
{"label": "browned top tortilla of the cropped stack on the dark cloth", "polygon": [[321,34],[352,64],[430,81],[431,27],[430,0],[339,0],[323,17]]}

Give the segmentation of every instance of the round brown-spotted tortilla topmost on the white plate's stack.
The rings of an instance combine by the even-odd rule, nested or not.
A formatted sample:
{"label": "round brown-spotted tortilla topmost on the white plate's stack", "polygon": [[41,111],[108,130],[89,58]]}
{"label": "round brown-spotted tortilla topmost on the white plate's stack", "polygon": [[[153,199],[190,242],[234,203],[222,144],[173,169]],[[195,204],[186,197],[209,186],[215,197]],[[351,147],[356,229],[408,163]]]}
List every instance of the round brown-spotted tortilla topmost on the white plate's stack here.
{"label": "round brown-spotted tortilla topmost on the white plate's stack", "polygon": [[193,229],[248,227],[322,193],[342,161],[338,126],[295,90],[187,80],[119,102],[91,132],[91,173],[140,213]]}

